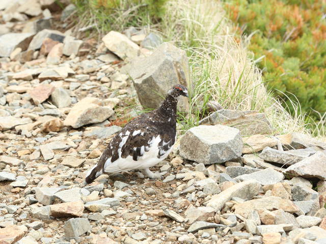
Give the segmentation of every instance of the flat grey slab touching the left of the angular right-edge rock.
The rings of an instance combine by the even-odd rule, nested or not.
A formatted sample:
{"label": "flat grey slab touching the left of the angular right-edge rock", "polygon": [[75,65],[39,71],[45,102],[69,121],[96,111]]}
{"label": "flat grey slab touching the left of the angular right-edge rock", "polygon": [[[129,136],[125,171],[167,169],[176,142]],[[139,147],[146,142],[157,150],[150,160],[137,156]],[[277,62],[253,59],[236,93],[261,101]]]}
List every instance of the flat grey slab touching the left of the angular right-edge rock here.
{"label": "flat grey slab touching the left of the angular right-edge rock", "polygon": [[306,158],[302,155],[287,153],[287,151],[280,151],[270,147],[265,147],[259,157],[268,162],[287,166],[293,165]]}

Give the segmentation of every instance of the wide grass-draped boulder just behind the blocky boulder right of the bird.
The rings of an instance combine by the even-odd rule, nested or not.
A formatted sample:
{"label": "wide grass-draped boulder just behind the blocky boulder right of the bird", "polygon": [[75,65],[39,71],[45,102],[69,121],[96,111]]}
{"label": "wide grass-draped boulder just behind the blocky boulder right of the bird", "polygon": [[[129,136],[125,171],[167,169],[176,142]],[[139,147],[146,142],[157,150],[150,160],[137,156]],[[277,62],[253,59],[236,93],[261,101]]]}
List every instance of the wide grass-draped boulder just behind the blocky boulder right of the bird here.
{"label": "wide grass-draped boulder just behind the blocky boulder right of the bird", "polygon": [[257,111],[220,109],[199,121],[199,125],[226,125],[240,130],[242,136],[273,134],[265,114]]}

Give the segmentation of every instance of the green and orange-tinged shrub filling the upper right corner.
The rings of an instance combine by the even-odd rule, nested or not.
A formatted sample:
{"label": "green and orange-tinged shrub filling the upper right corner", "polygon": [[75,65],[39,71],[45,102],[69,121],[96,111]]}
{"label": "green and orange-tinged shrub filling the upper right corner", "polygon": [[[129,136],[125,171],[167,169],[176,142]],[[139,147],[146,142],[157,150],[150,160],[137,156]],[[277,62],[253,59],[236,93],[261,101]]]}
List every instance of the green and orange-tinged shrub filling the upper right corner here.
{"label": "green and orange-tinged shrub filling the upper right corner", "polygon": [[[264,82],[284,99],[295,96],[303,112],[326,111],[326,2],[318,0],[232,0],[225,2]],[[294,113],[293,109],[291,111]],[[295,111],[297,112],[297,111]]]}

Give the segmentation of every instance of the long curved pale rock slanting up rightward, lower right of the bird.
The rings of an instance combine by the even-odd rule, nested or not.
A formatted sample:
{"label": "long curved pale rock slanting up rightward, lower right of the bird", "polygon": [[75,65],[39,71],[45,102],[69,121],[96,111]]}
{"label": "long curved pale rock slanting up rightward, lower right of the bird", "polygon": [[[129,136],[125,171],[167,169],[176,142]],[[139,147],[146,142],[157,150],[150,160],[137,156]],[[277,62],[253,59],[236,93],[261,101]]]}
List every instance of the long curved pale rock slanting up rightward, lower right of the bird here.
{"label": "long curved pale rock slanting up rightward, lower right of the bird", "polygon": [[212,207],[215,211],[221,210],[227,201],[230,201],[232,197],[239,197],[242,199],[252,199],[258,195],[261,186],[256,180],[243,181],[234,186],[226,189],[220,194],[213,195],[210,200],[207,201],[206,206]]}

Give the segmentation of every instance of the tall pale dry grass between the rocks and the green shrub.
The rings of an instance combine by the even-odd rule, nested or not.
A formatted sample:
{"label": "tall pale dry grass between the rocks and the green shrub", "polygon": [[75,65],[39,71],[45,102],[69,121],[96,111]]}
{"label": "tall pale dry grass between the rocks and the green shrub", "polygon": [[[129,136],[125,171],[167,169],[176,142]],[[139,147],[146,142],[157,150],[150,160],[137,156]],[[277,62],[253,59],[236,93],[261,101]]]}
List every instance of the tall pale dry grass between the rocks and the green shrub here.
{"label": "tall pale dry grass between the rocks and the green shrub", "polygon": [[[266,114],[280,134],[309,133],[305,116],[291,116],[267,92],[262,74],[249,58],[245,44],[235,41],[232,23],[225,17],[222,3],[212,0],[171,0],[161,29],[167,40],[188,52],[191,69],[193,113],[209,100],[226,109],[258,110]],[[292,103],[300,111],[300,105]],[[188,119],[188,127],[198,117]],[[186,128],[185,128],[186,129]]]}

